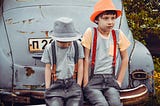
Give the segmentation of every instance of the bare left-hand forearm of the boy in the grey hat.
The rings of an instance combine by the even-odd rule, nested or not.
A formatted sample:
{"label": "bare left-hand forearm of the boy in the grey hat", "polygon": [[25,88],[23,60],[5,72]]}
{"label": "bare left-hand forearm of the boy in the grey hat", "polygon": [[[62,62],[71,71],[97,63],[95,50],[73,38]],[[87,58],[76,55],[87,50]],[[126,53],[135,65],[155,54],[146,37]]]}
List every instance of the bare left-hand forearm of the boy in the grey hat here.
{"label": "bare left-hand forearm of the boy in the grey hat", "polygon": [[45,87],[48,89],[51,83],[51,64],[45,66]]}

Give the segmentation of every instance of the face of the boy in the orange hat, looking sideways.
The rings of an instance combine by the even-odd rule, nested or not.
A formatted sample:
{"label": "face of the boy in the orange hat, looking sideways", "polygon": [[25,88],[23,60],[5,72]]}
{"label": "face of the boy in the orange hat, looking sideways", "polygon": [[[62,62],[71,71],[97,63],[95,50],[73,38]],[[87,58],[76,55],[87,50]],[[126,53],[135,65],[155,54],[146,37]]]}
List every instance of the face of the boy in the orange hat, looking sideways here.
{"label": "face of the boy in the orange hat, looking sideways", "polygon": [[115,14],[103,14],[98,18],[98,27],[104,32],[110,32],[116,20]]}

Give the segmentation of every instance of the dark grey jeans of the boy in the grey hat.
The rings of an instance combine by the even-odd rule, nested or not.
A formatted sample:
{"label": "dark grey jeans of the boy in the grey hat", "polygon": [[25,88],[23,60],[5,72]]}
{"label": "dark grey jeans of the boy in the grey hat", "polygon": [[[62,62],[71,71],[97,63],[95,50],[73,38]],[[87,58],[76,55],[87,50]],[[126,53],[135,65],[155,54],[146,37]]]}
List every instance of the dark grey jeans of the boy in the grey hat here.
{"label": "dark grey jeans of the boy in the grey hat", "polygon": [[82,106],[83,93],[75,79],[58,79],[45,92],[47,106]]}

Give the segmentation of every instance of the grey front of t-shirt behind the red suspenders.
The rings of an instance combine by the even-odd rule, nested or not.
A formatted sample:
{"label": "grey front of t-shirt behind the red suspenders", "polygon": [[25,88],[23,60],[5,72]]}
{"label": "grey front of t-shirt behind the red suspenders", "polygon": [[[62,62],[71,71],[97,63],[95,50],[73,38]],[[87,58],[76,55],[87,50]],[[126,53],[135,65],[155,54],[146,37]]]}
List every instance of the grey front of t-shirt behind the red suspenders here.
{"label": "grey front of t-shirt behind the red suspenders", "polygon": [[[116,33],[118,34],[117,31]],[[97,36],[96,50],[98,52],[96,52],[94,74],[112,74],[113,53],[110,54],[110,51],[112,51],[114,47],[112,33],[110,33],[108,38],[103,38],[99,31],[97,31],[97,34],[98,36]],[[117,51],[118,51],[118,43],[119,43],[119,38],[117,37]],[[91,56],[90,56],[90,61],[91,61]]]}

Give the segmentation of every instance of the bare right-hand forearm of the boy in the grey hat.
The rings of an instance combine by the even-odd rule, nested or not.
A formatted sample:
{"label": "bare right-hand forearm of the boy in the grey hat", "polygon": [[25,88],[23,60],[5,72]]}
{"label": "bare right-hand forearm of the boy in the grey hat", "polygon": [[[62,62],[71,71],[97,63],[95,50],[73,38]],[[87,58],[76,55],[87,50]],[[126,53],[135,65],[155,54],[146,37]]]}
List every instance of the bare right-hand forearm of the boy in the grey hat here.
{"label": "bare right-hand forearm of the boy in the grey hat", "polygon": [[81,86],[83,79],[83,59],[78,60],[78,78],[77,83]]}

